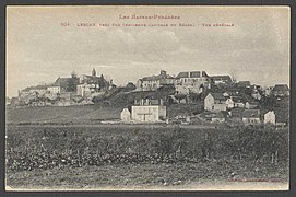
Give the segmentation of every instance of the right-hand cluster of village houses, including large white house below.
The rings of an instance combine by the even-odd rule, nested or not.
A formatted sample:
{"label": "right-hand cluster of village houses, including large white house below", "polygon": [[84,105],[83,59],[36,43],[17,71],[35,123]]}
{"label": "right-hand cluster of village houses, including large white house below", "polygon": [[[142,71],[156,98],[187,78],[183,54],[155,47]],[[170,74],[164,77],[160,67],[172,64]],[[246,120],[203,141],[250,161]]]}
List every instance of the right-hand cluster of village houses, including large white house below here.
{"label": "right-hand cluster of village houses, including large white house below", "polygon": [[[214,89],[212,89],[215,85],[232,86],[232,84],[235,84],[230,89],[232,91],[214,92]],[[175,94],[208,93],[203,99],[203,112],[194,116],[181,117],[186,123],[199,119],[211,123],[229,120],[244,124],[287,124],[287,119],[282,115],[283,113],[274,109],[262,109],[260,106],[260,100],[263,95],[288,96],[289,89],[286,84],[276,84],[263,90],[260,85],[251,84],[249,81],[234,82],[229,76],[209,77],[205,71],[188,71],[179,72],[177,77],[173,77],[162,70],[158,76],[139,79],[137,91],[157,91],[165,85],[174,86]],[[250,94],[246,96],[246,94],[240,93],[240,90],[250,90]],[[170,96],[175,99],[174,95]],[[135,101],[131,109],[123,108],[120,117],[123,123],[168,121],[166,119],[166,106],[163,105],[163,102],[154,102],[154,100]]]}

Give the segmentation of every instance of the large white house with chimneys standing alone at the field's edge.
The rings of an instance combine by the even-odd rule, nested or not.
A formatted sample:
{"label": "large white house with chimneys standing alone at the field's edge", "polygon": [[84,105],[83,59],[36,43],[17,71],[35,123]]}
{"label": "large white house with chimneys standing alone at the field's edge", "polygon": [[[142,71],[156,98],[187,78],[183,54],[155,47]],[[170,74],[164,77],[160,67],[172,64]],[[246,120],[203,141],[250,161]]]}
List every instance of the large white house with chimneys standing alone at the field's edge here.
{"label": "large white house with chimneys standing alone at the field's edge", "polygon": [[131,107],[131,117],[133,121],[162,121],[166,119],[166,106],[162,100],[141,100]]}

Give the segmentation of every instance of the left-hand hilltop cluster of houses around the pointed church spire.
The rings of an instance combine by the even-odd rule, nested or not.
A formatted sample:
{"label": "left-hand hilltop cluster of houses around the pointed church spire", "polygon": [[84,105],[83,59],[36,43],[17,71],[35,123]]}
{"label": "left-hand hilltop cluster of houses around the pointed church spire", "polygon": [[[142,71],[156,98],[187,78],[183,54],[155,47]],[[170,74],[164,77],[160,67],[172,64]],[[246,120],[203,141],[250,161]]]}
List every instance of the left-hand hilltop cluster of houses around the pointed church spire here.
{"label": "left-hand hilltop cluster of houses around the pointed church spire", "polygon": [[48,85],[29,86],[19,91],[19,96],[10,101],[19,106],[69,106],[94,104],[92,99],[103,94],[115,85],[113,80],[98,77],[96,70],[92,74],[78,77],[73,71],[70,78],[58,78]]}

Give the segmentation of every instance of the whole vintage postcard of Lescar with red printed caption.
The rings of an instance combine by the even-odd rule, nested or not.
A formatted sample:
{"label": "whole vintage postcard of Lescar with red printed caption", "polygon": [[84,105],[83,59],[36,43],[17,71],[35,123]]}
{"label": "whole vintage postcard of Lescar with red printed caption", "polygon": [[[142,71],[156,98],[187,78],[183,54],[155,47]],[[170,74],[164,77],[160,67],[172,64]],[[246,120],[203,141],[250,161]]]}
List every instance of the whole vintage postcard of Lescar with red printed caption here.
{"label": "whole vintage postcard of Lescar with red printed caption", "polygon": [[288,7],[7,7],[7,190],[289,189]]}

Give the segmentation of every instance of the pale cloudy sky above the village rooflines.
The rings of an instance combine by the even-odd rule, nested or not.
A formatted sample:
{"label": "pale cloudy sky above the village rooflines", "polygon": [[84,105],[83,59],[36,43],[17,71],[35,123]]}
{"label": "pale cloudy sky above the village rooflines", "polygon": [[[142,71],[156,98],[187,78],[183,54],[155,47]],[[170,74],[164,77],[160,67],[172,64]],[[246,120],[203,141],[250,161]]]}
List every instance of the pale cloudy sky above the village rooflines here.
{"label": "pale cloudy sky above the village rooflines", "polygon": [[93,68],[117,85],[162,69],[289,84],[288,7],[8,7],[7,14],[8,96]]}

